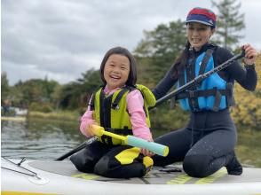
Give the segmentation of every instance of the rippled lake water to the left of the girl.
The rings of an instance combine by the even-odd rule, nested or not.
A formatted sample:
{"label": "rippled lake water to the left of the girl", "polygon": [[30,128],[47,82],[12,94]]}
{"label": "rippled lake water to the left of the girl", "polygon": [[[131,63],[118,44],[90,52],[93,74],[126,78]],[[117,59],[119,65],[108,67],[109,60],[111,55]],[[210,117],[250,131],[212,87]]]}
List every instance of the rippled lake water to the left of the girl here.
{"label": "rippled lake water to the left of the girl", "polygon": [[81,144],[77,122],[1,121],[1,155],[54,160]]}

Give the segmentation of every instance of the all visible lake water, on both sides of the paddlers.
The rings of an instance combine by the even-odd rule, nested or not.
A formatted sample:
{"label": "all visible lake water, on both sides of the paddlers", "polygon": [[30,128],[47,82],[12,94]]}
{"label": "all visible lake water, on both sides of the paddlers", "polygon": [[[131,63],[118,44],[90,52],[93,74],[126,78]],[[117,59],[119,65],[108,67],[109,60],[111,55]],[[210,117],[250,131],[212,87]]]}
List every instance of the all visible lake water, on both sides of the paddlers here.
{"label": "all visible lake water, on both sides of the paddlers", "polygon": [[[55,160],[84,141],[77,121],[1,121],[1,134],[2,156],[34,160]],[[260,131],[239,133],[236,152],[243,164],[261,168],[260,140]]]}

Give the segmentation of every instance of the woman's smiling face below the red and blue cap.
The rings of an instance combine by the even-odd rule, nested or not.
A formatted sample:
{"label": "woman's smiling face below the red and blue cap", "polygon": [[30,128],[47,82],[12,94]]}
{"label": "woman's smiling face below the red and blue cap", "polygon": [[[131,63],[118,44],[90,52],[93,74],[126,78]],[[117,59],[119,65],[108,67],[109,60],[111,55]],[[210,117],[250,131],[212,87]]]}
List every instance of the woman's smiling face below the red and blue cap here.
{"label": "woman's smiling face below the red and blue cap", "polygon": [[198,22],[190,22],[186,26],[186,35],[188,42],[195,51],[200,51],[205,43],[208,43],[210,36],[213,35],[215,29],[210,26],[203,25]]}

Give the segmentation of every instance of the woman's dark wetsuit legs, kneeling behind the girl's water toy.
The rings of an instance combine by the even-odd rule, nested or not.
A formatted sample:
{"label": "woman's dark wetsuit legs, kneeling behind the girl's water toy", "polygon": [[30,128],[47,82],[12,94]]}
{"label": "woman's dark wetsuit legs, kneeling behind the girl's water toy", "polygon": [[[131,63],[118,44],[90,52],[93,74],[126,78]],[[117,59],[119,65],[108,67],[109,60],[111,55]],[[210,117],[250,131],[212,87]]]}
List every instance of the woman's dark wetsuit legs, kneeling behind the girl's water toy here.
{"label": "woman's dark wetsuit legs, kneeling behind the girl's water toy", "polygon": [[192,113],[185,129],[178,129],[154,140],[170,148],[167,157],[154,156],[154,165],[165,166],[183,161],[187,175],[211,175],[233,157],[236,137],[228,110]]}

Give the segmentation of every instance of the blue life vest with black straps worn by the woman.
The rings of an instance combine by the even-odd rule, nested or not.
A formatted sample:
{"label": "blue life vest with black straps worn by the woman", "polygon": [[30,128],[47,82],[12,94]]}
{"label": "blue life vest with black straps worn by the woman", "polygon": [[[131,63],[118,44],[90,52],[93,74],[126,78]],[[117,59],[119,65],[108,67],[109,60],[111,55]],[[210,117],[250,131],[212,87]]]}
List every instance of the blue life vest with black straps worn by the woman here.
{"label": "blue life vest with black straps worn by the woman", "polygon": [[[196,76],[214,68],[213,49],[203,52],[189,60],[189,66],[178,75],[178,87],[192,81]],[[211,74],[197,86],[179,94],[179,103],[184,110],[198,112],[212,110],[217,112],[233,105],[233,83],[226,82],[218,73]]]}

